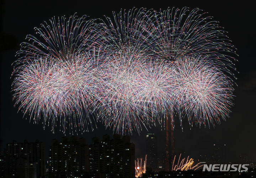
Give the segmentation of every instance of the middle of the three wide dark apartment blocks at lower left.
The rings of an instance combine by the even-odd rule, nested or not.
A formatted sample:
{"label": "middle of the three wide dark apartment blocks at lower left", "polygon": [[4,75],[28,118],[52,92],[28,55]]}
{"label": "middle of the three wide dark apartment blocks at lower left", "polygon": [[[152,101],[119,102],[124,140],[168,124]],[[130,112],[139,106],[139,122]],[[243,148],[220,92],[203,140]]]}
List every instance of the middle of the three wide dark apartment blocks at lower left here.
{"label": "middle of the three wide dark apartment blocks at lower left", "polygon": [[88,145],[84,138],[52,140],[49,147],[48,175],[51,177],[82,177],[89,171]]}

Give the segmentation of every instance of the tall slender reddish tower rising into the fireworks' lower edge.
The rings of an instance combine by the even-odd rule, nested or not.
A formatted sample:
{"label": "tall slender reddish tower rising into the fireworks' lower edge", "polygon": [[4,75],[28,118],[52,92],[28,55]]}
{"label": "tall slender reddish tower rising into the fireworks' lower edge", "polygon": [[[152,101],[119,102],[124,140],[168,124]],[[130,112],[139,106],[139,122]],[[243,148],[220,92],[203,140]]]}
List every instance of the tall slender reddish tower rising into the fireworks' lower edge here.
{"label": "tall slender reddish tower rising into the fireworks' lower edge", "polygon": [[175,156],[173,113],[166,114],[165,123],[165,171],[171,171]]}

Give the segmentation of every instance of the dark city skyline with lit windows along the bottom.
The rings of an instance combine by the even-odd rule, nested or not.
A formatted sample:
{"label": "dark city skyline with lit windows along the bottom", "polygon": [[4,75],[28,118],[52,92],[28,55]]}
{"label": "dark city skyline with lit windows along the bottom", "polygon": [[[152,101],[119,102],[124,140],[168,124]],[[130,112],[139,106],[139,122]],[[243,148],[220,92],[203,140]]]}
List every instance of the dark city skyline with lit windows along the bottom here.
{"label": "dark city skyline with lit windows along the bottom", "polygon": [[[52,144],[48,148],[39,140],[35,142],[28,142],[27,140],[16,142],[14,140],[8,143],[5,152],[0,154],[0,168],[5,170],[5,174],[2,176],[6,175],[6,170],[8,170],[9,174],[16,176],[25,174],[32,177],[37,175],[37,177],[48,176],[49,178],[58,175],[113,177],[116,174],[120,174],[121,177],[128,174],[129,177],[132,177],[135,175],[134,168],[142,168],[138,168],[134,164],[134,161],[140,161],[140,158],[135,157],[136,145],[130,142],[129,136],[103,135],[101,138],[92,137],[91,140],[92,143],[88,144],[85,138],[64,136],[61,140],[51,140]],[[155,142],[154,140],[154,134],[147,134],[144,138],[146,145],[149,142]],[[145,156],[146,159],[143,158],[145,168],[148,173],[152,171],[153,173],[166,172],[161,162],[157,161],[159,158],[161,159],[162,155],[156,153],[154,146],[156,145],[153,144],[153,147],[146,150],[148,154]],[[239,155],[240,160],[237,162],[226,161],[225,150],[227,147],[226,144],[212,144],[209,149],[210,154],[197,155],[196,157],[191,157],[186,152],[177,151],[174,166],[177,165],[181,168],[180,165],[185,165],[185,162],[189,161],[188,165],[196,166],[196,170],[202,170],[203,164],[222,163],[248,164],[249,169],[256,168],[255,161],[241,154]],[[188,157],[189,159],[186,161]],[[181,163],[182,158],[185,161],[183,163]],[[20,166],[16,168],[16,164]]]}

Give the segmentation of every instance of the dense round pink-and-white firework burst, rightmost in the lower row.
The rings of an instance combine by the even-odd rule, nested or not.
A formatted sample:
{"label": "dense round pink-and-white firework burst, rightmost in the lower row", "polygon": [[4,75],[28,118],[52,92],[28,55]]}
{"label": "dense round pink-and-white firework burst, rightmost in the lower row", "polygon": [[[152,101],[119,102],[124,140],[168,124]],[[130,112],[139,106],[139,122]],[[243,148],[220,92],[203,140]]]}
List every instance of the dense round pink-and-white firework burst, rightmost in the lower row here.
{"label": "dense round pink-and-white firework burst, rightmost in the lower row", "polygon": [[[205,60],[205,61],[204,61]],[[207,59],[176,60],[173,69],[176,111],[187,115],[191,125],[214,125],[225,119],[232,106],[233,87],[229,77]]]}

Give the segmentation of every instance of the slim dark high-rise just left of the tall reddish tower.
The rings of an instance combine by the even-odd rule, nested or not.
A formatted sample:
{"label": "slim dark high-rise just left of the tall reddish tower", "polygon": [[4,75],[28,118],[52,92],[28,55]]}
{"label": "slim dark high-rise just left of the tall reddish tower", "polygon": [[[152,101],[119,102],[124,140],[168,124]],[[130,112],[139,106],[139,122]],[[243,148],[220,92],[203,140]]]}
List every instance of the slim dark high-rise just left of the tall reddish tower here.
{"label": "slim dark high-rise just left of the tall reddish tower", "polygon": [[155,134],[146,135],[146,167],[152,168],[154,171],[158,166],[157,147]]}

